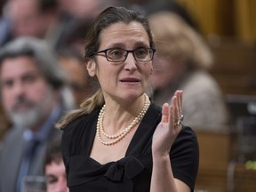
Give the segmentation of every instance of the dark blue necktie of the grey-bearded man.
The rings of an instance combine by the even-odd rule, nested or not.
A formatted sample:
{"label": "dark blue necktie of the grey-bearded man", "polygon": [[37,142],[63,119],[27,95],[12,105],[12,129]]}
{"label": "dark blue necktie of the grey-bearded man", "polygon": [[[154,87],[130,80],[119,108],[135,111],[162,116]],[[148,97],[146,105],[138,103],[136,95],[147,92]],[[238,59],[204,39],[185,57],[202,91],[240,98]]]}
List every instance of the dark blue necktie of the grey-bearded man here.
{"label": "dark blue necktie of the grey-bearded man", "polygon": [[33,162],[33,157],[36,154],[36,147],[38,146],[39,141],[32,139],[29,140],[27,146],[25,148],[24,156],[22,158],[20,164],[20,172],[18,174],[17,184],[16,184],[16,191],[21,192],[22,182],[26,175],[28,175],[29,167]]}

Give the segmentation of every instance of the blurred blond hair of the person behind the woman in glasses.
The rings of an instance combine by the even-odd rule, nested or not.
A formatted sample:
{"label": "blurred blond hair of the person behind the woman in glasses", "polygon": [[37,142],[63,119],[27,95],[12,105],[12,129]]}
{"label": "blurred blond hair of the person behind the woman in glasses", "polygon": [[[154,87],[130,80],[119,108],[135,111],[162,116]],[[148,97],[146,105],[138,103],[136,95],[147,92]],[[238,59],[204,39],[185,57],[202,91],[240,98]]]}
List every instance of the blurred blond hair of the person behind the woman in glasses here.
{"label": "blurred blond hair of the person behind the woman in glasses", "polygon": [[156,52],[185,60],[192,68],[211,68],[212,52],[203,37],[177,14],[156,12],[149,16]]}

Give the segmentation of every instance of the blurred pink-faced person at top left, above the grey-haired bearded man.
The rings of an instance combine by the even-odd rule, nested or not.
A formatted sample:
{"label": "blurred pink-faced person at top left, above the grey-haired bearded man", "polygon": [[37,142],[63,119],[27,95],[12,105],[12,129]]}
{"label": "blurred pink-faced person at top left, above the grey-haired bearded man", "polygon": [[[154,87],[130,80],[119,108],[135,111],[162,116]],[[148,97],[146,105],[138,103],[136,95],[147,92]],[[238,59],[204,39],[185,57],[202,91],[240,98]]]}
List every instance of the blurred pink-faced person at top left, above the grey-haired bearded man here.
{"label": "blurred pink-faced person at top left, above the grey-haired bearded man", "polygon": [[55,49],[66,36],[69,20],[61,17],[57,0],[9,0],[4,11],[9,33],[2,44],[19,36],[34,36]]}

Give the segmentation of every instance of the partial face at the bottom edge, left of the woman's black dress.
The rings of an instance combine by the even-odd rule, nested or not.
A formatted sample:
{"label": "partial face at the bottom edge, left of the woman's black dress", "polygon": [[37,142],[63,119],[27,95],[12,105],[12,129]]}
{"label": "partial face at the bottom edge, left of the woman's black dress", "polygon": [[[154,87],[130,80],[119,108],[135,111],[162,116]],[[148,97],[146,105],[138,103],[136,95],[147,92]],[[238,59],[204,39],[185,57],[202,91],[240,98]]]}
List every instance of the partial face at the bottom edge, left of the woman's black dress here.
{"label": "partial face at the bottom edge, left of the woman's black dress", "polygon": [[47,192],[68,192],[63,161],[60,161],[60,163],[52,162],[51,164],[46,164],[45,177]]}

